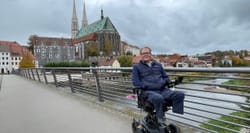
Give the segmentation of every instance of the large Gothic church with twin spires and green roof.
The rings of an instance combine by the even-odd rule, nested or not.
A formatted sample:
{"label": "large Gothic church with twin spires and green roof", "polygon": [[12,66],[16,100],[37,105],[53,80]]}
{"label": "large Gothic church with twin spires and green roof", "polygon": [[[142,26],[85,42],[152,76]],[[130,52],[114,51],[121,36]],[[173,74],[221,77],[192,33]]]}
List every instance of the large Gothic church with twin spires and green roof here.
{"label": "large Gothic church with twin spires and green roof", "polygon": [[109,17],[104,17],[101,9],[99,20],[88,24],[85,2],[83,4],[82,25],[78,26],[75,0],[71,22],[71,38],[76,48],[76,60],[90,56],[113,57],[121,55],[121,39],[119,32]]}

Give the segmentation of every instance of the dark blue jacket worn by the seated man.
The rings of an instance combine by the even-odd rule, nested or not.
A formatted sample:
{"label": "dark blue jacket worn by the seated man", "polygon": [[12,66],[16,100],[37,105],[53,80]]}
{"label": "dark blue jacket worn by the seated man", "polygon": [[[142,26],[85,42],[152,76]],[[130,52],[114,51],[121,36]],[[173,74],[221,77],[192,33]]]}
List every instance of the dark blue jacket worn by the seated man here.
{"label": "dark blue jacket worn by the seated man", "polygon": [[142,61],[134,64],[132,74],[133,85],[143,90],[163,90],[170,81],[162,65],[155,61],[151,67]]}

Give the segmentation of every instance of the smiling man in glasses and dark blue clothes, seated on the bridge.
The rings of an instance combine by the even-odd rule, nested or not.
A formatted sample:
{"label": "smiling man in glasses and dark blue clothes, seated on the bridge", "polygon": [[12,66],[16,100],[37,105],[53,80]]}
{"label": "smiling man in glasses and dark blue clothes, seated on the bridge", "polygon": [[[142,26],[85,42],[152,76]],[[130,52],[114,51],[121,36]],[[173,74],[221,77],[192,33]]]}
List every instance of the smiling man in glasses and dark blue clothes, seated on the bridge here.
{"label": "smiling man in glasses and dark blue clothes, seated on the bridge", "polygon": [[[164,106],[171,105],[174,113],[183,114],[184,93],[166,87],[171,81],[162,65],[152,59],[149,47],[142,48],[140,54],[140,62],[133,65],[132,82],[135,87],[141,89],[141,98],[149,102],[141,104],[149,104],[148,107],[152,104],[160,123],[165,121]],[[138,106],[142,105],[139,103]]]}

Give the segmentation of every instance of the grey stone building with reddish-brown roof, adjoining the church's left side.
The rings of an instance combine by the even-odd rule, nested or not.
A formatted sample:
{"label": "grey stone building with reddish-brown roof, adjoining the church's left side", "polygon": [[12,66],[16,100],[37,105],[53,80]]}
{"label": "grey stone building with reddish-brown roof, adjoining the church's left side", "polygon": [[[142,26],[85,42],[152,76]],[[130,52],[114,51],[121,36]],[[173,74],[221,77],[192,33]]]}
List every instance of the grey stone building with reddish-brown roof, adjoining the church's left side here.
{"label": "grey stone building with reddish-brown roof, adjoining the church's left side", "polygon": [[31,43],[39,67],[49,62],[75,61],[72,39],[33,36]]}

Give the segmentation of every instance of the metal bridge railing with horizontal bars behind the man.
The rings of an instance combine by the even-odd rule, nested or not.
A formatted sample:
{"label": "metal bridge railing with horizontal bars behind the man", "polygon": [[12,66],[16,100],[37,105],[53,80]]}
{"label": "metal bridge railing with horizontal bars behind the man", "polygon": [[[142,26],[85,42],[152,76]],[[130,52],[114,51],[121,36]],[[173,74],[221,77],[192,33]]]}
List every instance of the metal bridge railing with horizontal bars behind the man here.
{"label": "metal bridge railing with horizontal bars behind the man", "polygon": [[[45,84],[68,87],[72,93],[136,109],[135,100],[126,98],[132,93],[131,71],[131,67],[37,68],[21,69],[19,74]],[[184,77],[183,83],[174,89],[185,93],[184,115],[168,111],[168,119],[206,132],[249,131],[250,86],[228,82],[250,83],[249,68],[166,68],[166,71],[172,79]]]}

